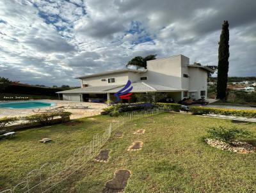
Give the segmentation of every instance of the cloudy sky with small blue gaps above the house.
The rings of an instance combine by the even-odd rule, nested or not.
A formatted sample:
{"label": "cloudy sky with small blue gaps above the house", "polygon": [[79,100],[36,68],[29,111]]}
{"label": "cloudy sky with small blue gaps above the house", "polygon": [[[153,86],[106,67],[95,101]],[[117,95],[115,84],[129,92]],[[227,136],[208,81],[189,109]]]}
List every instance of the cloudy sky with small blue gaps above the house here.
{"label": "cloudy sky with small blue gaps above the house", "polygon": [[134,56],[218,64],[230,23],[230,76],[256,76],[255,0],[1,0],[0,76],[48,86],[124,68]]}

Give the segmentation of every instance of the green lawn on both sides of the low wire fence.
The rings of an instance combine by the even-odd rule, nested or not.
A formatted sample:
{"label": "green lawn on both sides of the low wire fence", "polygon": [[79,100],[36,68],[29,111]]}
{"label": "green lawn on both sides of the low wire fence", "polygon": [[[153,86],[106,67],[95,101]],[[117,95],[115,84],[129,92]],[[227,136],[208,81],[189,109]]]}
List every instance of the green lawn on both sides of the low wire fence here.
{"label": "green lawn on both sides of the low wire fence", "polygon": [[[0,141],[0,186],[18,182],[27,171],[49,160],[66,160],[93,134],[103,132],[111,119],[95,118],[84,118],[76,126],[26,130],[12,140]],[[111,137],[104,146],[111,150],[107,163],[89,162],[52,192],[101,192],[116,169],[132,173],[125,192],[255,192],[256,155],[221,151],[205,144],[205,128],[213,125],[236,126],[256,133],[255,123],[238,125],[189,114],[164,113],[136,120],[120,129],[124,137]],[[138,129],[145,129],[145,134],[133,135]],[[38,143],[42,137],[54,142]],[[127,151],[136,140],[143,141],[142,150]]]}

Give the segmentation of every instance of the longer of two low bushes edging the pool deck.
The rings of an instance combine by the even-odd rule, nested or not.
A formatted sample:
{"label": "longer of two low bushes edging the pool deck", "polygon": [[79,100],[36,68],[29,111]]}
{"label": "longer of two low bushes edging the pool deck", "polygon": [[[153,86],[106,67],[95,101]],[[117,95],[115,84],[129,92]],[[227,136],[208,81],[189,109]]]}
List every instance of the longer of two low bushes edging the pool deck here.
{"label": "longer of two low bushes edging the pool deck", "polygon": [[72,113],[71,112],[49,112],[43,114],[34,114],[31,116],[26,116],[22,118],[23,120],[29,121],[29,123],[41,123],[42,125],[49,125],[53,118],[61,117],[62,121],[65,118],[69,117]]}

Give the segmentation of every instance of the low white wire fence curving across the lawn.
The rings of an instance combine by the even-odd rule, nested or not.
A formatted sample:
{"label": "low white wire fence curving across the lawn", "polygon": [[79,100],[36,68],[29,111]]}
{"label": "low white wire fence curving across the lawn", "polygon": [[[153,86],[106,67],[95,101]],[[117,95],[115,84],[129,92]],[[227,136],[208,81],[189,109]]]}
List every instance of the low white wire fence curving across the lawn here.
{"label": "low white wire fence curving across the lawn", "polygon": [[150,109],[147,111],[129,112],[118,116],[109,123],[103,134],[96,134],[92,141],[77,148],[66,162],[57,162],[55,164],[44,164],[37,169],[29,171],[24,179],[15,185],[12,189],[6,189],[0,193],[31,193],[31,192],[50,192],[62,181],[67,180],[69,176],[76,173],[81,167],[90,160],[93,160],[100,151],[100,148],[108,141],[112,132],[123,126],[128,121],[170,111],[170,109]]}

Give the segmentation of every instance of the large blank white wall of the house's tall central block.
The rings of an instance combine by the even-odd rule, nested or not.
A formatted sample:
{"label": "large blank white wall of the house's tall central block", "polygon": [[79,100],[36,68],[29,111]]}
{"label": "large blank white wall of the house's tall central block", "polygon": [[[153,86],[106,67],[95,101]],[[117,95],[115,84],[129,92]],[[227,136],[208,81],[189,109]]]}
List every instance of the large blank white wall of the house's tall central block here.
{"label": "large blank white wall of the house's tall central block", "polygon": [[182,55],[147,61],[147,72],[141,73],[148,77],[148,82],[154,82],[172,88],[182,88],[181,83]]}

